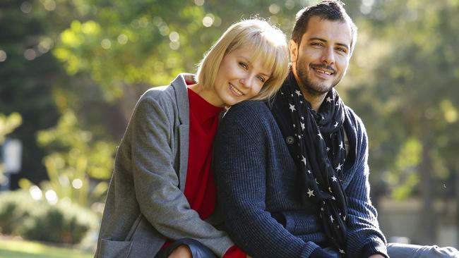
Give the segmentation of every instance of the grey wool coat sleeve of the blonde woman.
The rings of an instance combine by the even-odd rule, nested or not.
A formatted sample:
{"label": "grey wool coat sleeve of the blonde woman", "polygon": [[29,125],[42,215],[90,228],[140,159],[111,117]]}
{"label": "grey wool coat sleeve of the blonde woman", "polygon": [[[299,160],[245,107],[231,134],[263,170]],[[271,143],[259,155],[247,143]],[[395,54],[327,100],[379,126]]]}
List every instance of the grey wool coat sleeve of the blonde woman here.
{"label": "grey wool coat sleeve of the blonde woman", "polygon": [[179,189],[169,145],[174,113],[167,100],[156,97],[144,94],[129,125],[133,183],[141,212],[166,238],[196,239],[222,257],[233,243],[225,232],[200,219]]}

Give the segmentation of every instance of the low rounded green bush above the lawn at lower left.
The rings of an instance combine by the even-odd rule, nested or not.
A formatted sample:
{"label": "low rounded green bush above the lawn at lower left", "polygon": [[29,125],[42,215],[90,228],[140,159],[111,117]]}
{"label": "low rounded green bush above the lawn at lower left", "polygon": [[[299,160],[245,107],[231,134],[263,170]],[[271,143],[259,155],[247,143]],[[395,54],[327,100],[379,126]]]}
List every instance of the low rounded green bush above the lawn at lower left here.
{"label": "low rounded green bush above the lawn at lower left", "polygon": [[52,205],[43,199],[32,199],[25,191],[0,194],[1,233],[30,240],[77,244],[97,224],[97,216],[77,204],[60,201]]}

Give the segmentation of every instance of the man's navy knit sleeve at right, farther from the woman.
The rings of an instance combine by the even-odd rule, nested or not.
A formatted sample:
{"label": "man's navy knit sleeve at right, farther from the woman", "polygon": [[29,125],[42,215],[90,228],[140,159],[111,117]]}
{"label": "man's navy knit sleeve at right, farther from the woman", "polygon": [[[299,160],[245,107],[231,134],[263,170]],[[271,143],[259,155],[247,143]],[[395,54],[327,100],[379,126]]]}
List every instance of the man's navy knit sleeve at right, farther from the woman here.
{"label": "man's navy knit sleeve at right, farther from the woman", "polygon": [[346,188],[347,214],[347,256],[369,257],[382,254],[388,257],[386,238],[379,229],[377,211],[369,197],[368,140],[362,121],[357,119],[356,168]]}

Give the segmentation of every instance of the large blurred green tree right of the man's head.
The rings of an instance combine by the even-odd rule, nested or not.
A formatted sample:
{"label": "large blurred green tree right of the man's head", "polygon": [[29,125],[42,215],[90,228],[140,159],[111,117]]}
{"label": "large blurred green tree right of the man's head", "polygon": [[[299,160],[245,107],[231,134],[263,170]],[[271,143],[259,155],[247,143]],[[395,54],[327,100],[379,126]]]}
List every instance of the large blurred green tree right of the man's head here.
{"label": "large blurred green tree right of the man's head", "polygon": [[[455,198],[448,166],[458,138],[458,1],[372,1],[354,56],[348,97],[369,129],[371,164],[389,180],[394,195],[423,199],[423,235],[436,236],[433,202]],[[429,6],[429,8],[425,8]],[[373,28],[373,30],[370,30]],[[362,35],[363,34],[363,35]],[[456,176],[457,177],[457,176]],[[457,190],[456,190],[457,191]]]}

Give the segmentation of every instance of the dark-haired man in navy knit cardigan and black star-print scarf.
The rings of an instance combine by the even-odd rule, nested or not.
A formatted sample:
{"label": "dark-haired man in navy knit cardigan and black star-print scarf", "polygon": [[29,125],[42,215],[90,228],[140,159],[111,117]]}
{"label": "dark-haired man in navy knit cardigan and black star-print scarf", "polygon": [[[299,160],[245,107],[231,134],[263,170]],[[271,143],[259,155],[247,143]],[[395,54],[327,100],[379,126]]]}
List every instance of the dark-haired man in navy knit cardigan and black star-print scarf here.
{"label": "dark-haired man in navy knit cardigan and black star-print scarf", "polygon": [[270,103],[233,106],[220,124],[218,202],[229,235],[253,257],[457,253],[386,247],[369,199],[364,125],[333,89],[356,39],[357,27],[340,1],[299,11],[289,43],[292,70],[280,92]]}

